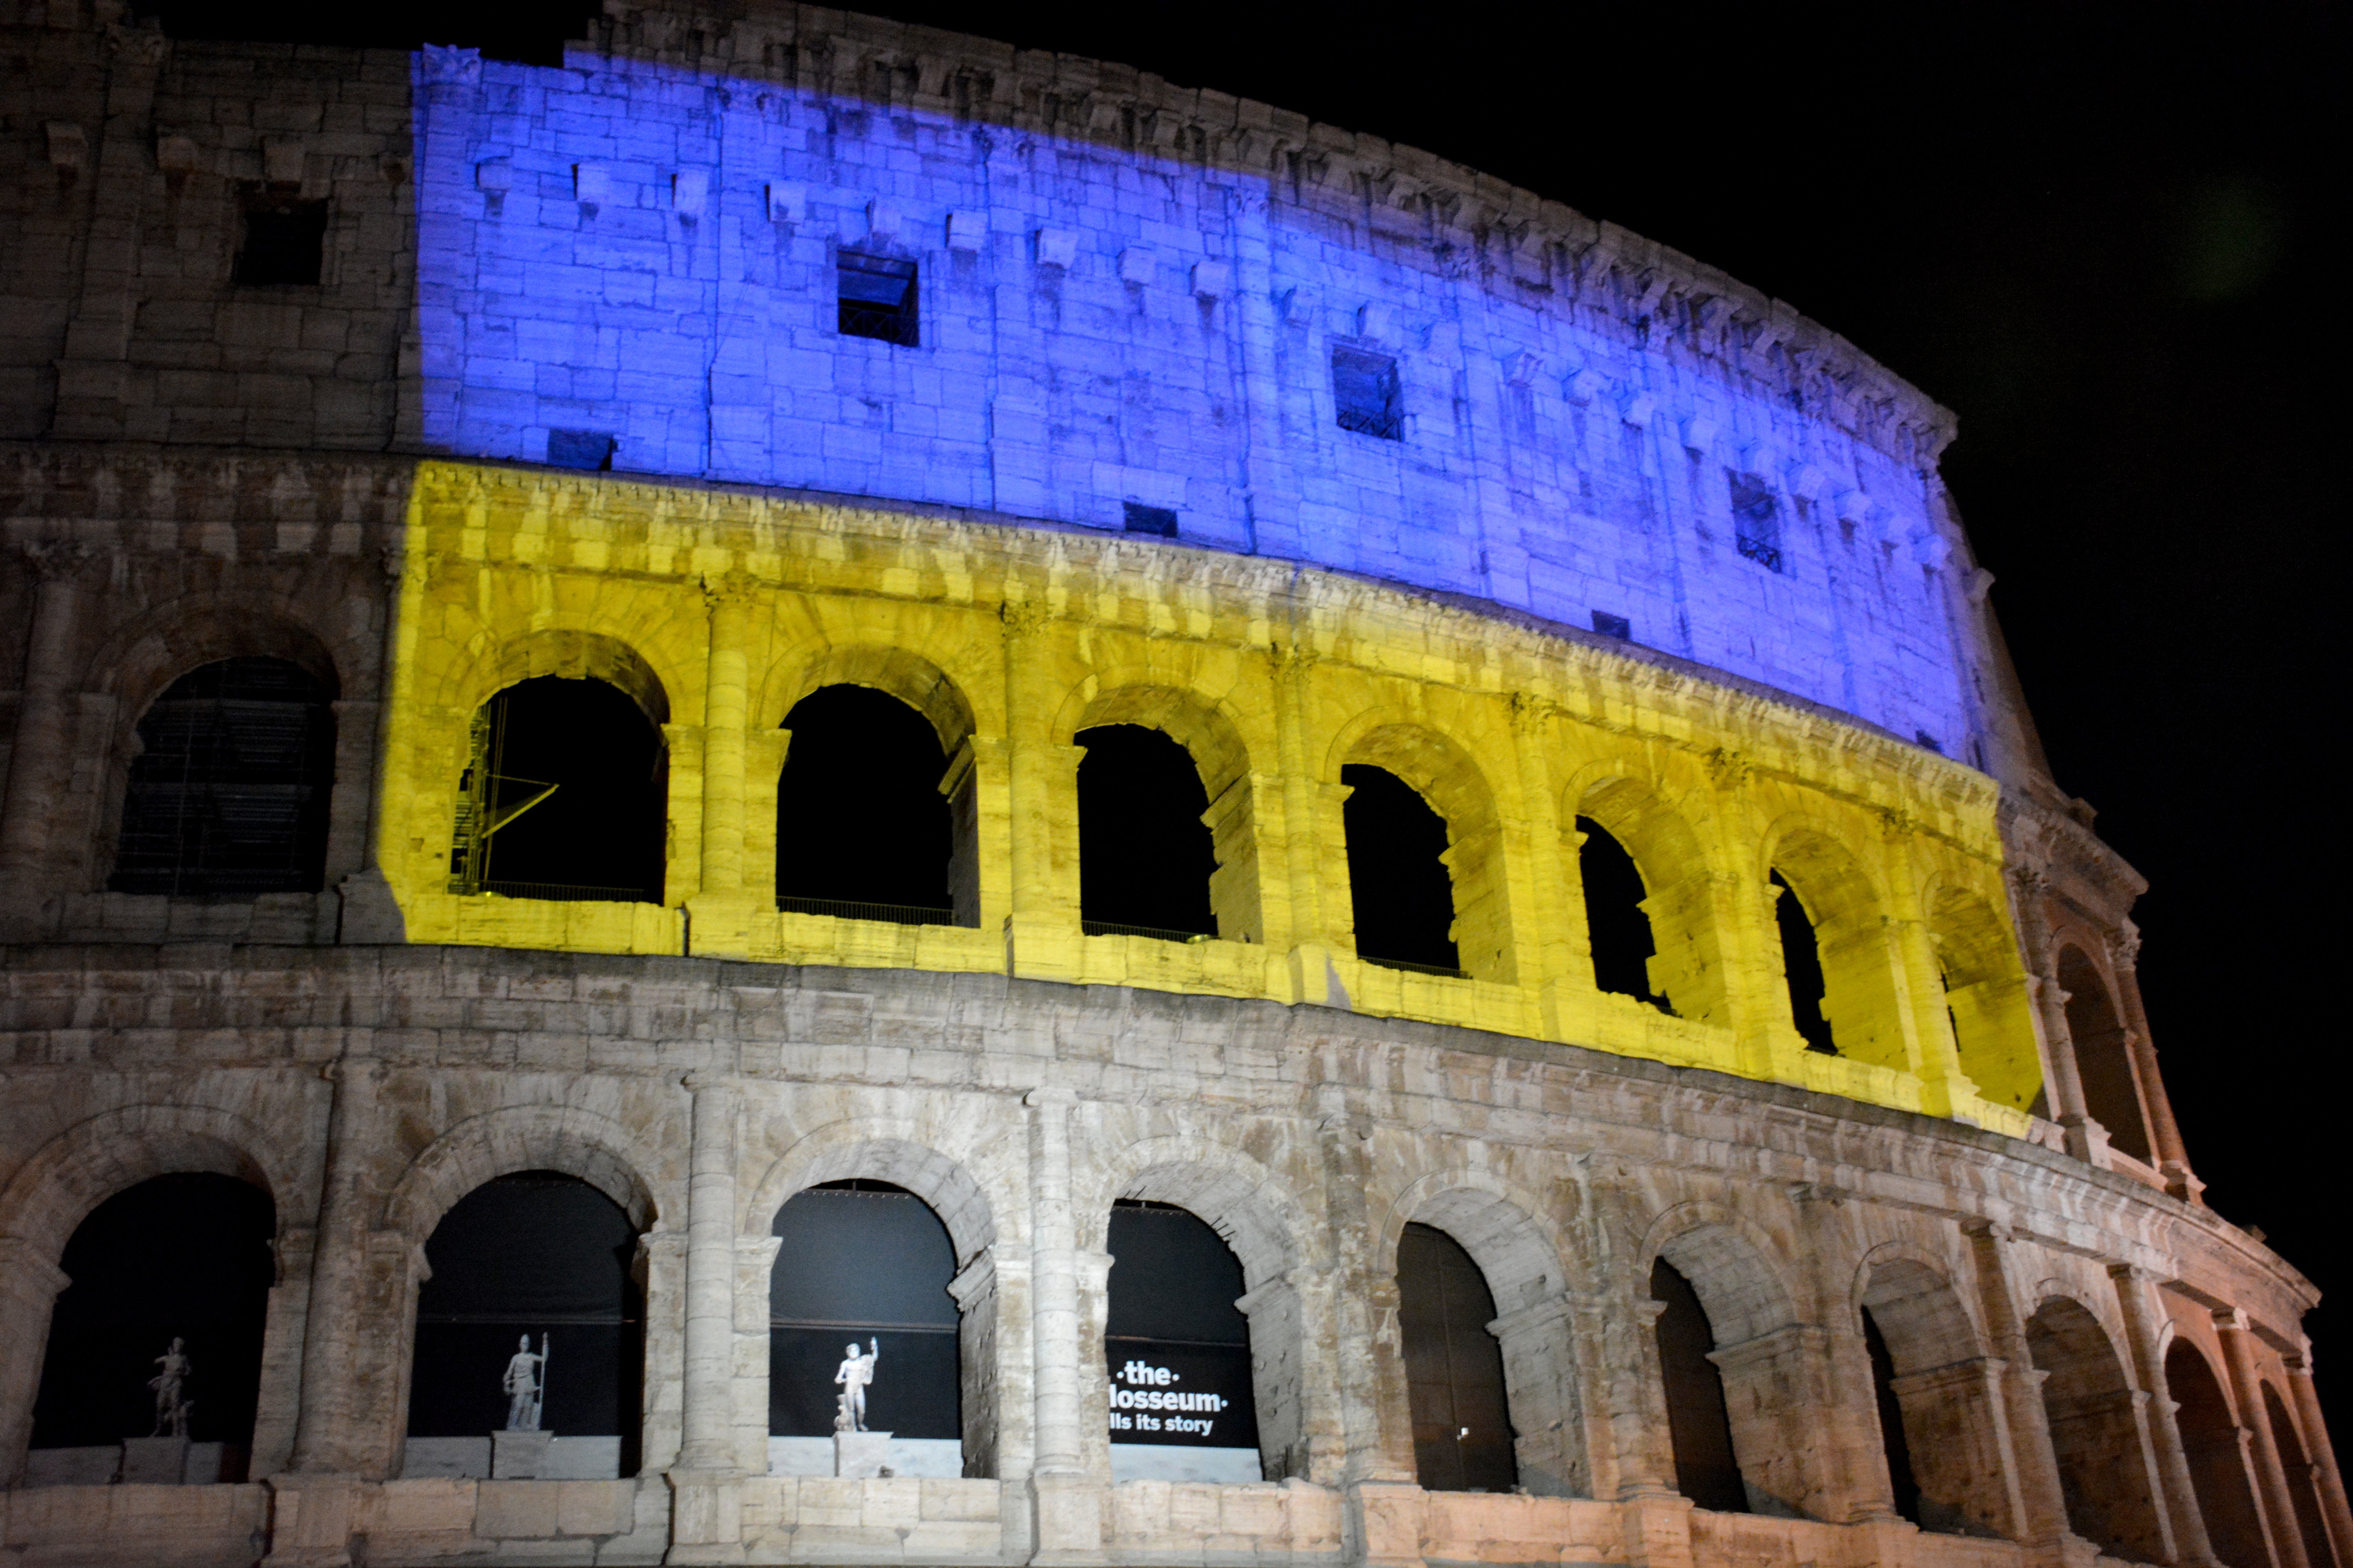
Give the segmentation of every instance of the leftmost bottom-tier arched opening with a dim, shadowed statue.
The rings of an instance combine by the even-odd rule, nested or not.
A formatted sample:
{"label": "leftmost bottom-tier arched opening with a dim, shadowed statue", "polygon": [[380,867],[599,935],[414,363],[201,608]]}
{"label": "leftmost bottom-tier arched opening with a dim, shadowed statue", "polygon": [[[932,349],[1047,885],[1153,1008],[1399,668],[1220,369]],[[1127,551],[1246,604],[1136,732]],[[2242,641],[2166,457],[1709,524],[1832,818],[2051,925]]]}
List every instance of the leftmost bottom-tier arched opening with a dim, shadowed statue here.
{"label": "leftmost bottom-tier arched opening with a dim, shadowed statue", "polygon": [[89,1211],[59,1267],[26,1486],[242,1481],[275,1274],[271,1194],[158,1175]]}

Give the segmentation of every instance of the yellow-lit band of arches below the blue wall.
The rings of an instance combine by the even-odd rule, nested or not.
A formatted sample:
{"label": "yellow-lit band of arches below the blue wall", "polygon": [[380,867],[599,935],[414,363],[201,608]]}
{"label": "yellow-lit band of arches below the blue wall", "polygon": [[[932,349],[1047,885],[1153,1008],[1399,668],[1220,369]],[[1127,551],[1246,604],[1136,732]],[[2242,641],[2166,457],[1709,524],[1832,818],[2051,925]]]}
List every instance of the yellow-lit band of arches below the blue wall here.
{"label": "yellow-lit band of arches below the blue wall", "polygon": [[[1699,675],[1214,559],[1176,583],[1108,541],[428,465],[379,818],[405,933],[1353,1006],[2031,1131],[2042,1048],[1984,776]],[[645,771],[624,731],[659,736],[654,816],[581,835],[584,853],[659,837],[642,893],[501,889],[496,860],[489,882],[459,875],[485,715],[548,677],[614,689],[628,722],[593,745],[631,769]],[[795,882],[812,860],[795,844],[840,823],[779,813],[826,799],[807,769],[828,752],[816,729],[795,750],[793,724],[845,689],[894,698],[915,738],[936,736],[936,752],[927,738],[908,752],[929,757],[911,766],[946,802],[934,914],[878,917],[849,907],[854,886]],[[1136,738],[1127,752],[1120,736]],[[1115,752],[1198,783],[1151,804],[1134,771],[1089,773]],[[501,785],[513,799],[492,816],[536,778]],[[1374,785],[1438,837],[1374,844],[1353,804]],[[1132,830],[1172,844],[1200,813],[1205,846],[1179,856],[1202,879],[1191,914],[1139,919],[1101,882],[1087,891],[1087,865],[1104,870],[1129,832],[1122,802],[1136,823],[1174,811]],[[911,837],[936,844],[939,813],[918,816]],[[1598,978],[1579,820],[1633,863],[1654,999]],[[1365,912],[1414,877],[1447,907],[1407,950]],[[1798,1032],[1774,877],[1812,922],[1833,1051]]]}

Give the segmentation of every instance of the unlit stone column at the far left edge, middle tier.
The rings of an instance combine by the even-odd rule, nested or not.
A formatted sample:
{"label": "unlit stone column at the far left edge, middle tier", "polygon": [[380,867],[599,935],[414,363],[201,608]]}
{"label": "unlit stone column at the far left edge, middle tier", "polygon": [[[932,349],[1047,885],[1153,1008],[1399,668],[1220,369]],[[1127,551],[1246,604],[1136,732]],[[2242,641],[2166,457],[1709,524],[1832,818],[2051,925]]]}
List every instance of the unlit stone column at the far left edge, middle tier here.
{"label": "unlit stone column at the far left edge, middle tier", "polygon": [[0,804],[0,889],[26,914],[47,886],[49,820],[73,771],[73,623],[80,611],[78,574],[89,548],[40,541],[16,559],[38,583],[33,635],[26,642],[24,696],[9,748],[7,799]]}

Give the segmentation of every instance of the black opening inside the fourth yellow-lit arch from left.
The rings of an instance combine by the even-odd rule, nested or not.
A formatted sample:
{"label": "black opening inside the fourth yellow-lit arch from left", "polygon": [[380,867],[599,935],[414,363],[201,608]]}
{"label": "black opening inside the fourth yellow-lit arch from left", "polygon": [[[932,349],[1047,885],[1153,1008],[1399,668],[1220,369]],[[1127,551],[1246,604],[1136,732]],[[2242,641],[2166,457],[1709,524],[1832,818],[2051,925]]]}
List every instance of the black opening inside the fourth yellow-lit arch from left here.
{"label": "black opening inside the fourth yellow-lit arch from left", "polygon": [[1348,835],[1348,896],[1355,957],[1388,969],[1461,976],[1454,947],[1454,879],[1447,820],[1388,769],[1351,762],[1341,823]]}

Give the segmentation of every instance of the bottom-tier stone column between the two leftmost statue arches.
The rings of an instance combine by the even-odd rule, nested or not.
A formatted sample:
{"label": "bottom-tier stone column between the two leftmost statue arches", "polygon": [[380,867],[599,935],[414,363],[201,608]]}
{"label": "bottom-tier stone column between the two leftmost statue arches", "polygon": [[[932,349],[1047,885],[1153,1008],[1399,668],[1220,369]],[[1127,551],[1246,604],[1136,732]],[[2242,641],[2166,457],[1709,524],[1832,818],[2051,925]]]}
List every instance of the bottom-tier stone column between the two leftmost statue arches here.
{"label": "bottom-tier stone column between the two leftmost statue arches", "polygon": [[327,1112],[327,1173],[318,1204],[318,1246],[311,1260],[311,1316],[301,1347],[301,1413],[294,1420],[289,1469],[318,1476],[360,1467],[353,1432],[353,1378],[360,1359],[360,1302],[367,1291],[367,1154],[374,1147],[374,1103],[384,1067],[341,1058],[327,1070],[334,1100]]}

